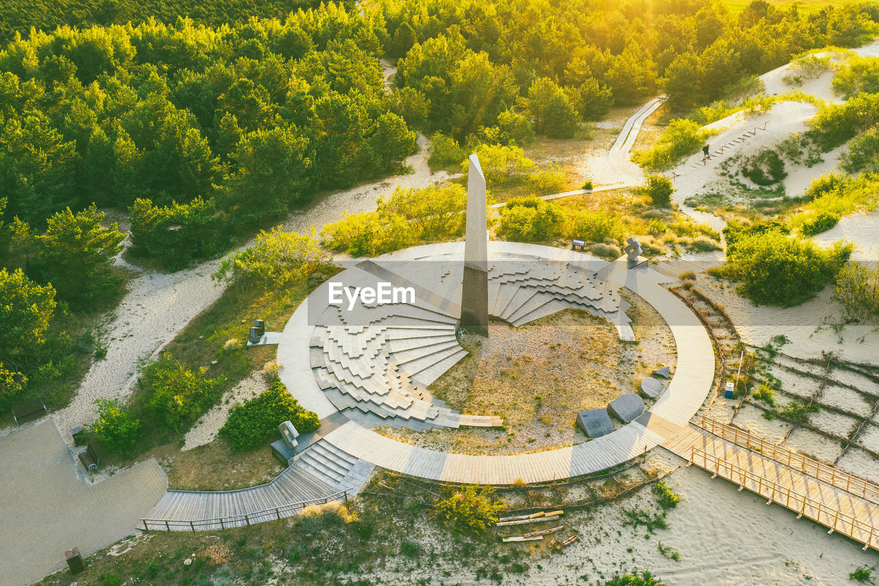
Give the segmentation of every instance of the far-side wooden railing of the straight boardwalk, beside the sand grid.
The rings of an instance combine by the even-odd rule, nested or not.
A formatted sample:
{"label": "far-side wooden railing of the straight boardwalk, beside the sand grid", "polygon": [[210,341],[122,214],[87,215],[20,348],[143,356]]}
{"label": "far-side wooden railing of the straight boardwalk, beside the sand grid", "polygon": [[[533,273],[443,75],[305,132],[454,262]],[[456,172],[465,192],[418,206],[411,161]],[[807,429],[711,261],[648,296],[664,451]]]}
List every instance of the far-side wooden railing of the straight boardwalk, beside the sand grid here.
{"label": "far-side wooden railing of the straight boardwalk, beside the sand grid", "polygon": [[702,429],[710,431],[718,437],[723,437],[723,439],[729,442],[736,443],[743,448],[759,451],[766,458],[772,458],[777,462],[781,462],[781,464],[814,476],[818,480],[824,480],[827,484],[834,487],[842,488],[846,492],[857,494],[861,498],[879,503],[879,485],[839,470],[839,468],[832,464],[803,456],[803,454],[797,451],[769,442],[765,437],[752,434],[746,429],[739,429],[705,415],[702,415],[698,425]]}

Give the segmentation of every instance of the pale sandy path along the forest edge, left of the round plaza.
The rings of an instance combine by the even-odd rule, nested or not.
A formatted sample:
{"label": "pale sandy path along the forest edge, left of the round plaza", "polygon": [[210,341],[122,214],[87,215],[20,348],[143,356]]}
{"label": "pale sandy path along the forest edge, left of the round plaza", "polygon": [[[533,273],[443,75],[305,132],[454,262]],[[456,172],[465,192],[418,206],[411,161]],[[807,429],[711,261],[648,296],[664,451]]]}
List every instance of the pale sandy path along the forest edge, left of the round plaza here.
{"label": "pale sandy path along the forest edge, left of the round plaza", "polygon": [[[375,209],[376,201],[393,192],[397,185],[427,187],[446,180],[446,172],[430,172],[427,144],[427,138],[419,136],[418,153],[406,159],[413,173],[325,195],[308,209],[288,216],[281,225],[287,231],[308,231],[312,225],[320,230],[325,223],[338,220],[345,211]],[[91,423],[97,414],[94,400],[98,397],[127,398],[136,380],[137,363],[157,355],[224,290],[211,281],[220,260],[208,260],[173,274],[143,271],[121,258],[117,264],[140,275],[128,282],[127,295],[102,325],[106,358],[92,363],[70,405],[53,414],[62,431]]]}

